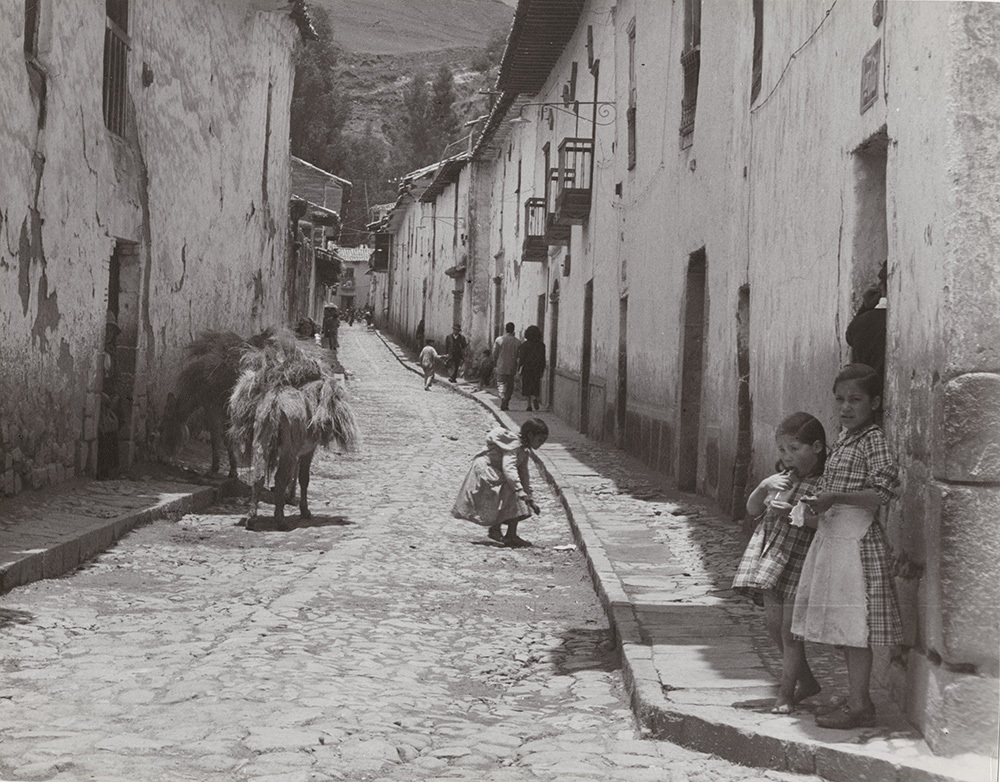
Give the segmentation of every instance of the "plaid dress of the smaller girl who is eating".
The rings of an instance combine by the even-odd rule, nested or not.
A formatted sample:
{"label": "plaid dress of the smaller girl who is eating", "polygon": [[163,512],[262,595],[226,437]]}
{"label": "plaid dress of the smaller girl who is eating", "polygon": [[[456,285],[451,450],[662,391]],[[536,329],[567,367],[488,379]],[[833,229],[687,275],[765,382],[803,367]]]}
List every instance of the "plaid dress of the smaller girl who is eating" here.
{"label": "plaid dress of the smaller girl who is eating", "polygon": [[[787,495],[794,506],[802,497],[816,494],[820,476],[803,478]],[[768,497],[767,502],[774,499]],[[809,527],[793,527],[788,518],[765,510],[760,524],[747,544],[740,566],[733,579],[733,589],[754,598],[763,593],[782,603],[795,600],[809,544],[815,531]]]}

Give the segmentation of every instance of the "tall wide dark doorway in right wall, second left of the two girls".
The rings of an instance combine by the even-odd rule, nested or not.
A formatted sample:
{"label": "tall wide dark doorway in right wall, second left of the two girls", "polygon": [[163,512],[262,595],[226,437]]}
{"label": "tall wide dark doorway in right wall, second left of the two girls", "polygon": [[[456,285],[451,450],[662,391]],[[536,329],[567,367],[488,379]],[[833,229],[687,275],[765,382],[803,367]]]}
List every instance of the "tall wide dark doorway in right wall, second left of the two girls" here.
{"label": "tall wide dark doorway in right wall, second left of the two girls", "polygon": [[677,488],[682,491],[698,489],[698,432],[701,428],[707,266],[704,247],[691,253],[685,286],[680,452],[677,455]]}

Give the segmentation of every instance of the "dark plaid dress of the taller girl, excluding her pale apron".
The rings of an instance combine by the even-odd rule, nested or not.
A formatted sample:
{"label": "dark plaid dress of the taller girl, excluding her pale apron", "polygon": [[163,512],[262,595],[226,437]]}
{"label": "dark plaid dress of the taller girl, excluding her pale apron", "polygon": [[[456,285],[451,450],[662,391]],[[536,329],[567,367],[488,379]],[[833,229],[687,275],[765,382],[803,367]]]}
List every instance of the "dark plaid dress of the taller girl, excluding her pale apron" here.
{"label": "dark plaid dress of the taller girl, excluding her pale apron", "polygon": [[[888,503],[899,486],[899,472],[882,430],[875,424],[857,432],[843,431],[826,461],[821,491],[855,492],[874,489]],[[822,536],[816,537],[817,544]],[[889,567],[889,546],[878,518],[858,542],[868,619],[868,645],[894,646],[903,642],[896,585]],[[817,548],[817,551],[819,549]],[[811,567],[806,568],[808,578]],[[830,603],[835,596],[829,596]],[[797,619],[797,617],[796,617]],[[797,621],[793,621],[793,632]],[[810,639],[807,640],[822,640]]]}

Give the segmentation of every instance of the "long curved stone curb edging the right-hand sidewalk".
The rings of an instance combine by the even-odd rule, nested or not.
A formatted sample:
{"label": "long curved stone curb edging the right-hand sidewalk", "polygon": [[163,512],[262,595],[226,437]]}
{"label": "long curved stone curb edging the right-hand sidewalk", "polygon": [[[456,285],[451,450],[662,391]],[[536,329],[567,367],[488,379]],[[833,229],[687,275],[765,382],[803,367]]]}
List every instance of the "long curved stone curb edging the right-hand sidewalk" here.
{"label": "long curved stone curb edging the right-hand sidewalk", "polygon": [[[397,345],[380,330],[375,329],[375,333],[400,364],[421,374],[412,361],[401,355]],[[514,420],[490,400],[448,381],[442,385],[478,402],[500,423],[516,428]],[[905,759],[866,753],[863,745],[831,745],[768,735],[669,703],[663,696],[652,649],[643,641],[635,608],[594,531],[584,503],[548,457],[540,453],[532,455],[566,510],[573,538],[587,560],[595,591],[611,624],[632,711],[651,735],[733,763],[815,774],[832,782],[968,782],[967,776],[952,775],[954,763],[948,758],[934,758],[934,765],[941,770],[933,771]]]}

